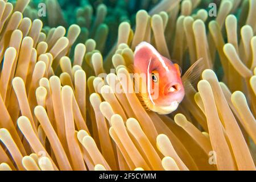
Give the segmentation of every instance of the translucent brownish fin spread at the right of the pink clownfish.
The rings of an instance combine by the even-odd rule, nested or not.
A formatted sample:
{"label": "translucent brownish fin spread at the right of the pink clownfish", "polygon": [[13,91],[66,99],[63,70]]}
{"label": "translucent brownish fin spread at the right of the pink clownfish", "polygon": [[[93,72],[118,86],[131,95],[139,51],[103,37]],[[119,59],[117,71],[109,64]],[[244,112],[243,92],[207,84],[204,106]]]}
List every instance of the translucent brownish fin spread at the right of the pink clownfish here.
{"label": "translucent brownish fin spread at the right of the pink clownfish", "polygon": [[187,90],[191,89],[191,86],[197,83],[203,69],[204,69],[203,58],[200,58],[194,64],[192,64],[191,67],[188,68],[188,70],[184,73],[184,75],[181,77],[181,80],[183,82],[185,93]]}

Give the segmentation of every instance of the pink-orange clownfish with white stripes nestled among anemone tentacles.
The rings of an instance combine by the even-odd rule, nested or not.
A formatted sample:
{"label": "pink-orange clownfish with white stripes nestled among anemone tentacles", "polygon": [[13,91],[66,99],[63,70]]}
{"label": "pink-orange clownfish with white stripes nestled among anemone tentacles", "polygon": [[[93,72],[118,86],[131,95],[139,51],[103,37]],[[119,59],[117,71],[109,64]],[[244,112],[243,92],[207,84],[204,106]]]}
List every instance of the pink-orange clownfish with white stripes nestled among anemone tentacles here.
{"label": "pink-orange clownfish with white stripes nestled among anemone tentacles", "polygon": [[170,114],[177,109],[185,96],[179,65],[160,55],[151,44],[142,42],[135,47],[133,72],[144,75],[135,84],[146,109],[158,114]]}

